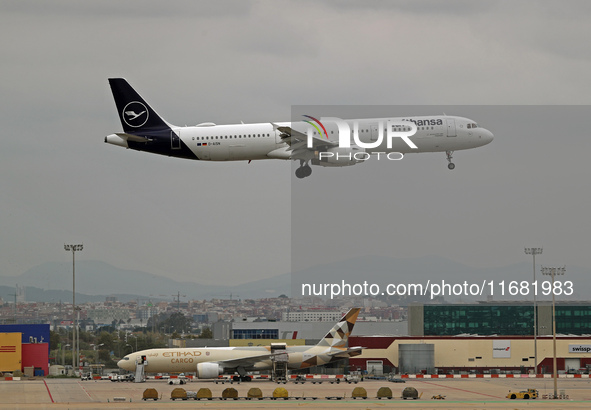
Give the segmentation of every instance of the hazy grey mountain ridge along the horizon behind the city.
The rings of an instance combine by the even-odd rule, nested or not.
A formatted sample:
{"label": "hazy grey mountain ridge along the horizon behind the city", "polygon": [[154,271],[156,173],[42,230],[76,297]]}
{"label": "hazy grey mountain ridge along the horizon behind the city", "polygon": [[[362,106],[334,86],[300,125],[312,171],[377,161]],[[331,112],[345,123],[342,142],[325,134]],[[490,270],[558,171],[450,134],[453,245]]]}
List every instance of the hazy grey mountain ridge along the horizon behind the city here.
{"label": "hazy grey mountain ridge along the horizon behind the city", "polygon": [[[314,266],[295,272],[293,275],[282,274],[269,279],[248,282],[238,286],[202,285],[197,282],[180,282],[151,273],[119,269],[100,261],[79,261],[76,263],[76,300],[102,301],[106,296],[117,296],[119,300],[146,299],[172,300],[174,294],[181,292],[187,299],[229,298],[232,294],[238,299],[259,299],[291,295],[290,289],[299,293],[302,283],[379,283],[414,284],[430,283],[469,284],[494,281],[493,300],[533,300],[528,296],[507,295],[508,283],[513,280],[533,280],[531,263],[508,265],[497,268],[472,268],[452,260],[428,256],[420,258],[389,258],[384,256],[363,256],[329,264]],[[591,299],[591,270],[576,266],[567,266],[567,274],[562,280],[574,283],[575,293],[560,300]],[[198,279],[198,278],[197,278]],[[293,279],[293,280],[292,280]],[[548,280],[539,272],[538,281]],[[505,296],[500,295],[500,281],[505,281]],[[0,297],[5,301],[13,300],[14,286],[25,286],[27,301],[71,301],[72,271],[69,263],[48,262],[36,266],[19,276],[0,276]],[[466,297],[446,296],[450,302],[485,300],[489,287],[482,296]],[[550,297],[538,296],[538,300]],[[186,299],[185,299],[186,300]]]}

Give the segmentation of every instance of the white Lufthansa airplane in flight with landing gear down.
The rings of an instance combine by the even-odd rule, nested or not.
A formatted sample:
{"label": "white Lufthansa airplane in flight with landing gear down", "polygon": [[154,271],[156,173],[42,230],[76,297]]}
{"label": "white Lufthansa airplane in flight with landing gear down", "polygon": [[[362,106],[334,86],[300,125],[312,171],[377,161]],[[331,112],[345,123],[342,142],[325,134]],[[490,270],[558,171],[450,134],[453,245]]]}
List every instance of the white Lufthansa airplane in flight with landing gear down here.
{"label": "white Lufthansa airplane in flight with landing gear down", "polygon": [[110,78],[109,84],[123,132],[108,135],[106,143],[200,161],[299,161],[298,178],[312,174],[310,165],[343,167],[422,152],[445,152],[448,168],[454,169],[454,151],[493,140],[475,121],[450,115],[357,120],[303,115],[294,122],[178,127],[160,117],[125,79]]}

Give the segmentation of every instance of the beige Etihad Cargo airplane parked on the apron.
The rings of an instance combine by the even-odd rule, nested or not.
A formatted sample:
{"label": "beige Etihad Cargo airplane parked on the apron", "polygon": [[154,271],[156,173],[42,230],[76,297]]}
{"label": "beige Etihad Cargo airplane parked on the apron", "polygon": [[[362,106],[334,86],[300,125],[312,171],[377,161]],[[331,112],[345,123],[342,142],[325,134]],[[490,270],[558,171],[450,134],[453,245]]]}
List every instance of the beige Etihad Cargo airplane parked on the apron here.
{"label": "beige Etihad Cargo airplane parked on the apron", "polygon": [[199,379],[238,373],[234,376],[236,381],[250,381],[249,372],[271,370],[277,363],[286,363],[288,370],[321,366],[361,354],[362,347],[347,347],[359,310],[349,310],[315,346],[272,343],[269,346],[148,349],[128,354],[117,366],[135,372],[137,365],[143,365],[146,373],[196,372]]}

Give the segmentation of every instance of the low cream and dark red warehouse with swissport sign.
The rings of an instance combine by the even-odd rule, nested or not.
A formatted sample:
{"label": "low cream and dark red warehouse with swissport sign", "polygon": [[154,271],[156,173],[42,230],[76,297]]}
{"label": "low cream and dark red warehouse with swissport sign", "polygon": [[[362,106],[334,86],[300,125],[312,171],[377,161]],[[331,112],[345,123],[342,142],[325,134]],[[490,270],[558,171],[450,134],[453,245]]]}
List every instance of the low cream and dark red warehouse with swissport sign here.
{"label": "low cream and dark red warehouse with swissport sign", "polygon": [[[369,373],[533,373],[534,338],[528,336],[352,336],[349,346],[363,346],[349,359],[354,370]],[[551,336],[537,339],[538,373],[552,373]],[[556,342],[559,373],[588,372],[591,337],[559,336]]]}

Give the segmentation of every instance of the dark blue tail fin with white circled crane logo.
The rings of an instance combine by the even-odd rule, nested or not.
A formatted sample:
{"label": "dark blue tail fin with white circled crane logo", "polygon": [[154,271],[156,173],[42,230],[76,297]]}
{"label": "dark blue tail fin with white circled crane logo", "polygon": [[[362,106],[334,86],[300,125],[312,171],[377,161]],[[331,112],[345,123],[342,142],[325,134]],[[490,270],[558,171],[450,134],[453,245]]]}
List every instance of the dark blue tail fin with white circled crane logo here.
{"label": "dark blue tail fin with white circled crane logo", "polygon": [[171,128],[124,78],[109,78],[123,130],[129,134]]}

